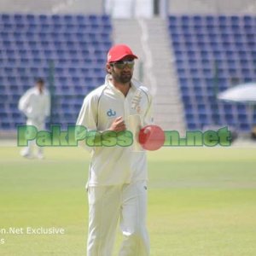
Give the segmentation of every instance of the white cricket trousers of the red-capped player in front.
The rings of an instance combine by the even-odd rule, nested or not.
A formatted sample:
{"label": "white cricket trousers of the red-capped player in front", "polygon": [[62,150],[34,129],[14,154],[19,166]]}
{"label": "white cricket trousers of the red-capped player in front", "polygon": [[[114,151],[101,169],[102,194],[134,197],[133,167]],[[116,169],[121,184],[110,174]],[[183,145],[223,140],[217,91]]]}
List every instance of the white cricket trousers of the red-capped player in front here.
{"label": "white cricket trousers of the red-capped player in front", "polygon": [[88,187],[87,256],[111,256],[119,223],[124,241],[119,256],[148,256],[147,183]]}

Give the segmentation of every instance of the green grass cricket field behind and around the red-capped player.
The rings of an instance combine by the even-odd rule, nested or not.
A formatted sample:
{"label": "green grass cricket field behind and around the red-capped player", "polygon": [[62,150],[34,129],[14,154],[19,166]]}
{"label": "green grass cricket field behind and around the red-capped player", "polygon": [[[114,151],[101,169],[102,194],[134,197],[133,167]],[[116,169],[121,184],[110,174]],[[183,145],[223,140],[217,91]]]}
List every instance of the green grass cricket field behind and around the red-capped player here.
{"label": "green grass cricket field behind and around the red-capped player", "polygon": [[[86,255],[89,154],[45,154],[25,160],[19,148],[0,148],[0,230],[55,226],[65,235],[0,233],[0,255]],[[256,255],[255,148],[164,148],[148,154],[148,167],[152,256]]]}

